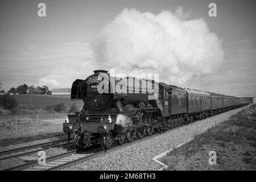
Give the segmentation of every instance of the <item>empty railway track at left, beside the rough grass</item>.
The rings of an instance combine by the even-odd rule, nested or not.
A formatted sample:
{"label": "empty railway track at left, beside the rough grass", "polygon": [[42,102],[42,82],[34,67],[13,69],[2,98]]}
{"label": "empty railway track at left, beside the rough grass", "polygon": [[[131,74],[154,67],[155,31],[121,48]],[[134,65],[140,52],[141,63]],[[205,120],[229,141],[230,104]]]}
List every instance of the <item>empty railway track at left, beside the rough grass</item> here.
{"label": "empty railway track at left, beside the rough grass", "polygon": [[48,148],[64,146],[66,144],[71,144],[73,142],[67,142],[67,138],[55,140],[52,142],[40,143],[26,147],[15,148],[13,150],[7,150],[0,152],[0,160],[15,158],[18,156],[32,154],[41,150],[46,150]]}

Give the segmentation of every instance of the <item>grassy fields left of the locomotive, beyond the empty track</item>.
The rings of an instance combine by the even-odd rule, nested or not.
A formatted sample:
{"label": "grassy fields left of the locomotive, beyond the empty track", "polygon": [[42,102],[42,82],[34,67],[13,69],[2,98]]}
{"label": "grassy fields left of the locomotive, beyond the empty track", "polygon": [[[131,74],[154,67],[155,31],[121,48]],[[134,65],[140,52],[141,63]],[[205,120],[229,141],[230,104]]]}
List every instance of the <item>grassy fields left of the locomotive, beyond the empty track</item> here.
{"label": "grassy fields left of the locomotive, beyond the empty track", "polygon": [[14,95],[19,102],[18,113],[0,115],[0,146],[12,143],[30,142],[35,139],[60,137],[63,133],[62,123],[68,110],[61,113],[45,110],[46,106],[73,103],[81,109],[83,102],[72,101],[70,96]]}

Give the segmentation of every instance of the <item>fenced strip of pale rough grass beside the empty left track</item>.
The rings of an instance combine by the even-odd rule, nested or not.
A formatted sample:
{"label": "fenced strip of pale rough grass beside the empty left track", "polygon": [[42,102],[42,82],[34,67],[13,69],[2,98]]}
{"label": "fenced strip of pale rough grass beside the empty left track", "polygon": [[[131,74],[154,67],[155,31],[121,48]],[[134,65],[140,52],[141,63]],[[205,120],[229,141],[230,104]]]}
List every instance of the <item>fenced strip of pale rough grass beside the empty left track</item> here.
{"label": "fenced strip of pale rough grass beside the empty left track", "polygon": [[0,115],[1,139],[63,133],[67,113]]}

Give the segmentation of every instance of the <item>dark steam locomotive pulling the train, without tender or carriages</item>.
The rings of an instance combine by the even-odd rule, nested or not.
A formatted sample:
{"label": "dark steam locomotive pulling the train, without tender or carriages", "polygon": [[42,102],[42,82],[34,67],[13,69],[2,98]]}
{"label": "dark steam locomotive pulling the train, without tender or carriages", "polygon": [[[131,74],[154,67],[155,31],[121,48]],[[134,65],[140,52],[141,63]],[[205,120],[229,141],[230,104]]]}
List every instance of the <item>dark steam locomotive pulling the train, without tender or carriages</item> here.
{"label": "dark steam locomotive pulling the train, without tender or carriages", "polygon": [[[71,99],[82,100],[84,107],[79,113],[67,115],[63,130],[69,137],[75,134],[77,147],[101,143],[110,148],[115,141],[131,142],[134,134],[142,138],[160,128],[159,103],[149,99],[154,93],[146,89],[149,81],[123,79],[127,79],[126,84],[110,77],[107,71],[96,70],[85,80],[73,82]],[[129,79],[133,80],[132,85],[128,84]],[[99,88],[104,92],[99,92]]]}

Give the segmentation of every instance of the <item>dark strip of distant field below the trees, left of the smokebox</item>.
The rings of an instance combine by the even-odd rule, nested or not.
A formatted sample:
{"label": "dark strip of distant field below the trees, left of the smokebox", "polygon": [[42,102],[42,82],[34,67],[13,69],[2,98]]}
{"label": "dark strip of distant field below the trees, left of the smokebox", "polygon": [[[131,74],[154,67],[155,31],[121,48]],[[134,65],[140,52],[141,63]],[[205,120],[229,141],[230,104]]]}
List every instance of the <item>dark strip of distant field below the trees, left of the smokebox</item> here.
{"label": "dark strip of distant field below the trees, left of the smokebox", "polygon": [[31,104],[31,105],[52,105],[57,103],[64,103],[65,105],[71,105],[74,102],[77,105],[83,105],[81,100],[72,101],[70,96],[52,96],[52,95],[14,95],[19,104]]}

